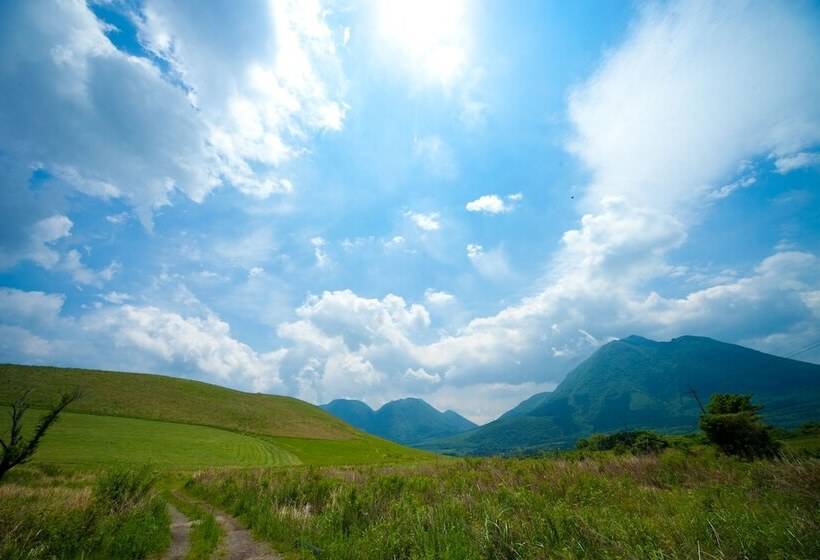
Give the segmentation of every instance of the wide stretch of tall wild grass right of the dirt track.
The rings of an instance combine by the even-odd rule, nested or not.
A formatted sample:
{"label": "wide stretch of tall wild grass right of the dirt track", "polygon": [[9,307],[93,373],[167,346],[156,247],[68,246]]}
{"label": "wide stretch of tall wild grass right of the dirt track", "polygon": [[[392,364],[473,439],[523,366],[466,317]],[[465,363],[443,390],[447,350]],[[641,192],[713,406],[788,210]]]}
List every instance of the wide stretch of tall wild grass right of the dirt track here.
{"label": "wide stretch of tall wild grass right of the dirt track", "polygon": [[304,558],[820,558],[814,460],[668,450],[209,471],[187,489]]}

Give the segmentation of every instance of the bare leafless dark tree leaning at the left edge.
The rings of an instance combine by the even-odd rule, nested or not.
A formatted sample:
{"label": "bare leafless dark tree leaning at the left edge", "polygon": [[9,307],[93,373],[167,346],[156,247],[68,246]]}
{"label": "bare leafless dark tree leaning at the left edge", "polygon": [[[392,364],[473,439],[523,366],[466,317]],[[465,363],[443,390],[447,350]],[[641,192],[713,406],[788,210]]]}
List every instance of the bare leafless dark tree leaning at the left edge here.
{"label": "bare leafless dark tree leaning at the left edge", "polygon": [[46,435],[46,432],[54,422],[59,418],[60,413],[70,405],[72,402],[80,398],[79,390],[74,390],[70,393],[64,393],[60,400],[52,406],[49,411],[40,418],[37,428],[30,439],[23,437],[23,416],[29,409],[28,397],[29,391],[23,393],[11,405],[11,429],[9,430],[9,439],[6,441],[0,438],[0,446],[2,446],[2,457],[0,457],[0,481],[8,471],[21,465],[31,459],[37,447],[40,445],[40,440]]}

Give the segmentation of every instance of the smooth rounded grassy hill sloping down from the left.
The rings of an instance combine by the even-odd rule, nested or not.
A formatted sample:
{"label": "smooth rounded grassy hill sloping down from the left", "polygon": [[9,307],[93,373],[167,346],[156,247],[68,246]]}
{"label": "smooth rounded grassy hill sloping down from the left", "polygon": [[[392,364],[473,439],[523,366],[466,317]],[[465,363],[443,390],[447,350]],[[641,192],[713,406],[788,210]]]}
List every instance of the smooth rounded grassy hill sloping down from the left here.
{"label": "smooth rounded grassy hill sloping down from the left", "polygon": [[429,458],[364,434],[320,408],[290,397],[243,393],[150,374],[0,365],[0,432],[6,407],[31,391],[39,411],[78,387],[44,438],[35,463],[91,467],[150,463],[162,468],[367,464]]}

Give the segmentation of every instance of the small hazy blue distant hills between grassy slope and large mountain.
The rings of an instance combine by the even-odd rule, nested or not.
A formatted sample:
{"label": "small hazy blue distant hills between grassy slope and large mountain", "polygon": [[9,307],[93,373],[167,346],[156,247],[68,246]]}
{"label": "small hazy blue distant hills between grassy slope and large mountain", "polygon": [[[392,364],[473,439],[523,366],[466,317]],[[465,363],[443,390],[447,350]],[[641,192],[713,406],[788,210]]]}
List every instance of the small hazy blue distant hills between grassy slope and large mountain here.
{"label": "small hazy blue distant hills between grassy slope and large mountain", "polygon": [[361,430],[406,445],[476,427],[452,410],[439,412],[422,399],[415,398],[392,401],[379,410],[373,410],[361,401],[347,399],[331,401],[321,408]]}

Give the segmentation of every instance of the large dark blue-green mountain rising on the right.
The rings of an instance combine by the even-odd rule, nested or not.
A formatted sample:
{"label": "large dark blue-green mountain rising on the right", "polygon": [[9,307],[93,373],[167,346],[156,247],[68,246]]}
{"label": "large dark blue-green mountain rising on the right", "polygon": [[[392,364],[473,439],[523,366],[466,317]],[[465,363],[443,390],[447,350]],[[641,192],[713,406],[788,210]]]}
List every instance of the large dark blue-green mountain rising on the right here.
{"label": "large dark blue-green mountain rising on the right", "polygon": [[527,399],[494,422],[424,443],[455,454],[514,453],[574,445],[591,433],[646,428],[685,433],[713,393],[751,393],[771,423],[820,418],[820,366],[705,337],[610,342],[551,393]]}

